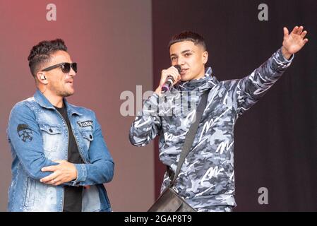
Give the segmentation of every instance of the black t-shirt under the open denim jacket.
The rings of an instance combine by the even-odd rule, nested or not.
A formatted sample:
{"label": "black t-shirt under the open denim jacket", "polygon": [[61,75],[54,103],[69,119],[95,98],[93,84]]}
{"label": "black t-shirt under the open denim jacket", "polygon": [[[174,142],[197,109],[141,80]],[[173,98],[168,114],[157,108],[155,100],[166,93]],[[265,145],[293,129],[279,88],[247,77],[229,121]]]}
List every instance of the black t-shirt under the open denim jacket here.
{"label": "black t-shirt under the open denim jacket", "polygon": [[[78,146],[73,136],[73,130],[71,129],[71,124],[67,116],[66,105],[63,107],[55,107],[56,110],[61,114],[61,116],[66,121],[68,131],[69,131],[69,141],[68,141],[68,162],[71,163],[83,163],[80,157]],[[83,186],[64,186],[64,212],[81,212],[81,204],[83,199]]]}

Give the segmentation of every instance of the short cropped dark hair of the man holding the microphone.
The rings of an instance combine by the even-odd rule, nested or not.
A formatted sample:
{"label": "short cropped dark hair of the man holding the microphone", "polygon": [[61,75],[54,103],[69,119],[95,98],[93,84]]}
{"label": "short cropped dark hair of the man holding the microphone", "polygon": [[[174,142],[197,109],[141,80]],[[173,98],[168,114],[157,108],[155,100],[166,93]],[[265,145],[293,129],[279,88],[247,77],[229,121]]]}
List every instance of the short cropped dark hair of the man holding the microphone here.
{"label": "short cropped dark hair of the man holding the microphone", "polygon": [[205,39],[203,38],[203,36],[189,30],[185,30],[178,35],[174,35],[172,37],[172,40],[169,41],[168,47],[170,48],[172,44],[175,44],[177,42],[184,42],[184,41],[191,41],[196,45],[200,44],[204,50],[207,50]]}

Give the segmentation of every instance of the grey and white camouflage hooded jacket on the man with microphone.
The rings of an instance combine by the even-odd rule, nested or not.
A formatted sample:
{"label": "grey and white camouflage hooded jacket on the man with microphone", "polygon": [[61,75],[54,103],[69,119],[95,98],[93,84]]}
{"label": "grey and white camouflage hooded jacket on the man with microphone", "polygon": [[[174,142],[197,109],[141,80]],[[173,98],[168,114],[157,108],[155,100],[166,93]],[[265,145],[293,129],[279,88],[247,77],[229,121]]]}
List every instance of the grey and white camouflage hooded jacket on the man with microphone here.
{"label": "grey and white camouflage hooded jacket on the man with microphone", "polygon": [[[145,100],[142,111],[133,121],[129,137],[131,143],[143,146],[159,135],[160,160],[175,172],[201,94],[210,90],[191,152],[181,167],[174,189],[198,211],[212,211],[217,206],[236,206],[234,124],[239,115],[253,106],[282,76],[292,59],[285,59],[278,49],[245,78],[219,82],[211,76],[211,68],[208,68],[203,78],[176,85],[168,98],[154,93]],[[191,95],[188,95],[189,92]],[[184,110],[179,111],[189,105],[195,109],[186,114],[182,114]],[[169,114],[171,111],[174,111],[173,114]],[[165,174],[161,191],[168,184],[169,177]]]}

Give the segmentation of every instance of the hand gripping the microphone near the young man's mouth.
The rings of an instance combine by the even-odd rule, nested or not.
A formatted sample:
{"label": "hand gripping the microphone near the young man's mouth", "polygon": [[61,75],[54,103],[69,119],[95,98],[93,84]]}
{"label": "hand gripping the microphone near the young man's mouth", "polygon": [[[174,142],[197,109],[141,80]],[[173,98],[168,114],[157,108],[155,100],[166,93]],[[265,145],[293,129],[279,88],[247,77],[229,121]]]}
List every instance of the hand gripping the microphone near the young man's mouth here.
{"label": "hand gripping the microphone near the young man's mouth", "polygon": [[160,95],[161,92],[167,92],[170,90],[174,84],[181,80],[180,73],[181,66],[179,65],[171,66],[169,69],[162,70],[160,85],[155,90],[155,93]]}

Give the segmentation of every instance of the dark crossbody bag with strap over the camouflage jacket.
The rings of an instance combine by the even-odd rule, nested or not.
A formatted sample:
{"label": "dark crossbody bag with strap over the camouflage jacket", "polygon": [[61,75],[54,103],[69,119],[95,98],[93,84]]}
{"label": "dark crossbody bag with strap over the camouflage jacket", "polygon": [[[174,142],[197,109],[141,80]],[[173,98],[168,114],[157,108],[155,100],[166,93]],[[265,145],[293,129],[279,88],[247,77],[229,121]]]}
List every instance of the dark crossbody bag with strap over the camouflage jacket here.
{"label": "dark crossbody bag with strap over the camouflage jacket", "polygon": [[201,97],[201,102],[199,102],[196,110],[196,121],[191,124],[191,127],[186,134],[185,143],[181,150],[181,156],[179,157],[175,174],[173,175],[169,173],[169,168],[167,168],[169,178],[171,179],[169,186],[167,186],[165,191],[163,191],[160,197],[157,198],[157,201],[155,201],[155,203],[150,207],[148,212],[196,212],[196,210],[192,208],[189,203],[186,203],[185,198],[179,196],[179,194],[177,194],[177,192],[172,189],[172,186],[174,185],[174,182],[181,171],[181,165],[183,165],[189,150],[191,150],[191,145],[193,145],[193,140],[195,138],[199,122],[201,121],[203,111],[205,110],[207,104],[208,93],[209,92],[203,93]]}

